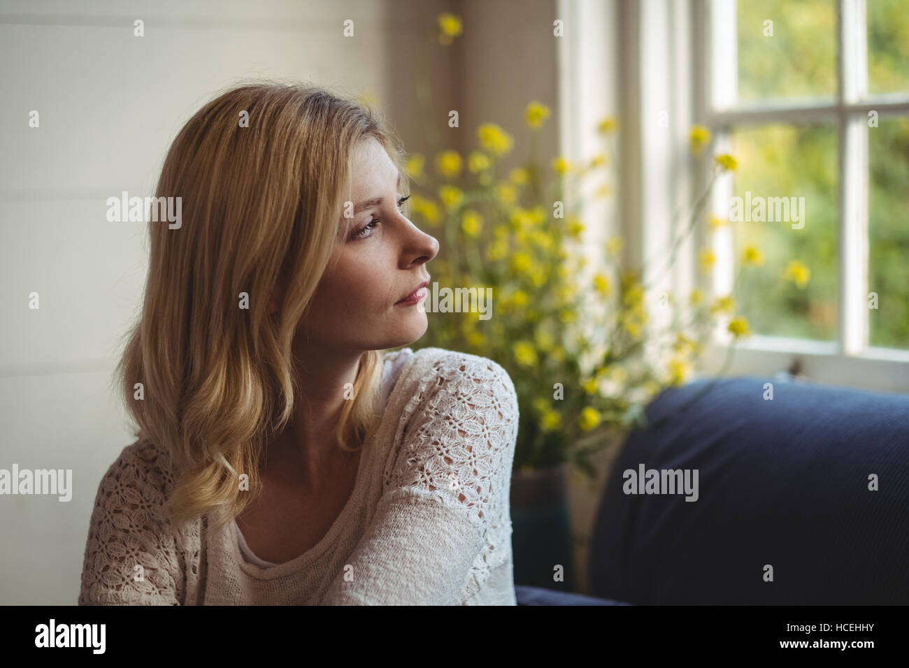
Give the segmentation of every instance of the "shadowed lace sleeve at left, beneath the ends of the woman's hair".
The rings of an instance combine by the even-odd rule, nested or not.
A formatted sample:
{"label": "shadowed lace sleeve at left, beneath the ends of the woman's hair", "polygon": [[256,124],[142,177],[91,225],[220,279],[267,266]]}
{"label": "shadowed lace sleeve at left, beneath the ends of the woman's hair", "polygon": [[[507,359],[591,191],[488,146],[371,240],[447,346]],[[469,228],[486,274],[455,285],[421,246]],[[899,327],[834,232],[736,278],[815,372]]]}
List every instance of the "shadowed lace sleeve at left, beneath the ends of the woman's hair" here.
{"label": "shadowed lace sleeve at left, beneath the ends of the woman's hair", "polygon": [[79,605],[178,605],[182,585],[164,491],[126,448],[98,485]]}

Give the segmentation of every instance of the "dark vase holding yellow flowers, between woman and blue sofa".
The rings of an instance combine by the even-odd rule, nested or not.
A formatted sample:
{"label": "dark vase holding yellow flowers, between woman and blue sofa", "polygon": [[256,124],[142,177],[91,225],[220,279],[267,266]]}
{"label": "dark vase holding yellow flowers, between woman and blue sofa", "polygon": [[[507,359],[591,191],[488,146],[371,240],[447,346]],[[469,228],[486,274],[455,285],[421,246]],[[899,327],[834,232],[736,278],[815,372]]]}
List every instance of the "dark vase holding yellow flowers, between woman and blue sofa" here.
{"label": "dark vase holding yellow flowers, between woman and blue sofa", "polygon": [[[514,583],[574,591],[574,557],[566,486],[567,464],[514,473],[511,480]],[[554,581],[555,566],[564,581]]]}

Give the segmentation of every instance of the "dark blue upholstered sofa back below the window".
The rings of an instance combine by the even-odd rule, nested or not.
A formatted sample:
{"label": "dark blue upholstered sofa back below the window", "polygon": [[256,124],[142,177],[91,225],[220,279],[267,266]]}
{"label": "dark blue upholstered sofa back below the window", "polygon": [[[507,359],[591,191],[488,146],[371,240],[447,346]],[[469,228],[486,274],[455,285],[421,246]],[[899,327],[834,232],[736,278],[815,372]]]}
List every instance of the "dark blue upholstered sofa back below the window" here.
{"label": "dark blue upholstered sofa back below the window", "polygon": [[[654,426],[626,440],[597,514],[594,595],[909,603],[909,396],[774,382],[768,401],[768,382],[702,381],[648,407]],[[625,494],[640,464],[697,470],[697,501]]]}

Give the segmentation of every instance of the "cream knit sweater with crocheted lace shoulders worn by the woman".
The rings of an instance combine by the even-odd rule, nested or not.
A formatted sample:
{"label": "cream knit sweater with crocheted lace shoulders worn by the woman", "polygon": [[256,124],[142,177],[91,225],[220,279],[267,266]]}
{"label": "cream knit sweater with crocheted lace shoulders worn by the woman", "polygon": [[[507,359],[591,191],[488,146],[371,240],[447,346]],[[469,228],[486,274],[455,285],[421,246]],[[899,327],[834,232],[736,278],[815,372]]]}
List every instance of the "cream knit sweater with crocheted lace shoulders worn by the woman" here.
{"label": "cream knit sweater with crocheted lace shoulders worn by the woman", "polygon": [[164,448],[137,441],[98,486],[78,603],[514,605],[517,427],[499,364],[441,348],[410,354],[335,523],[269,568],[245,561],[234,522],[170,523],[162,507],[175,467]]}

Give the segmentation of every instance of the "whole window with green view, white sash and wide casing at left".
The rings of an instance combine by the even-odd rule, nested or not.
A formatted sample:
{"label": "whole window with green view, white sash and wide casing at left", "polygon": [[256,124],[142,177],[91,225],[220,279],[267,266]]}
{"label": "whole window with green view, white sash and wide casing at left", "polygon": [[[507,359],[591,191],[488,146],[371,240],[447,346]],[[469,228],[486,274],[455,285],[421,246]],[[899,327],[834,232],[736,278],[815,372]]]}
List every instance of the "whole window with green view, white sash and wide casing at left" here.
{"label": "whole window with green view, white sash and wide casing at left", "polygon": [[[629,264],[646,271],[704,191],[694,124],[710,128],[714,153],[739,158],[708,213],[726,220],[734,196],[743,208],[761,196],[779,198],[774,218],[789,218],[704,220],[666,279],[688,294],[706,278],[715,295],[737,279],[755,334],[737,344],[729,373],[766,377],[797,360],[818,382],[909,392],[905,0],[558,0],[557,14],[575,26],[559,41],[567,155],[589,157],[594,117],[620,118],[617,208],[589,217],[615,221]],[[804,225],[785,209],[793,196],[804,197]],[[739,266],[751,244],[763,264]],[[698,272],[705,247],[716,258],[709,277]],[[796,271],[782,279],[793,261],[807,282]],[[727,343],[718,332],[698,371],[718,371]]]}

